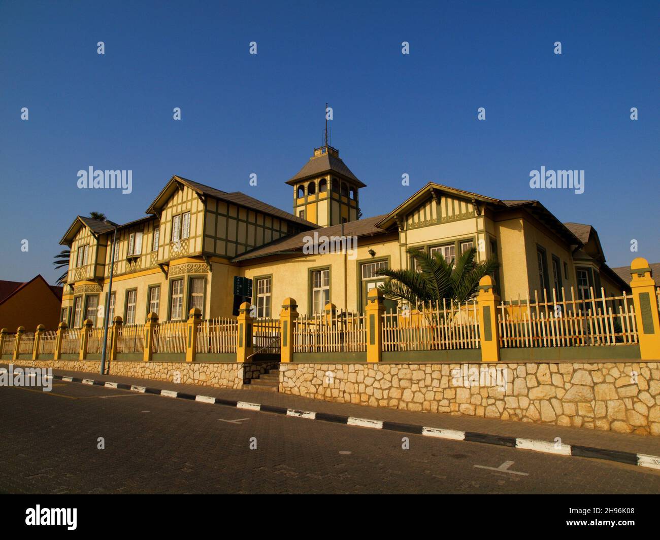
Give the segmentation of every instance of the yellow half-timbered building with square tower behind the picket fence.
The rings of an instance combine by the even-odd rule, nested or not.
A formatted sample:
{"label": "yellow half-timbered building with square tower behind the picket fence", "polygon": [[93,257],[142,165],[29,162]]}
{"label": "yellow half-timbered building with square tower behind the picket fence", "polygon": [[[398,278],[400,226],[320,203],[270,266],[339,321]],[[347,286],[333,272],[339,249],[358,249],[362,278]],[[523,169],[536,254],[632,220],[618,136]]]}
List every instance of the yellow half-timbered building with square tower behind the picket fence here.
{"label": "yellow half-timbered building with square tower behind the picket fence", "polygon": [[182,320],[193,307],[203,318],[231,316],[236,276],[251,280],[259,317],[277,316],[287,297],[300,313],[328,302],[362,312],[367,292],[383,282],[377,270],[413,264],[408,247],[446,258],[475,247],[479,260],[497,257],[504,299],[553,287],[580,295],[590,286],[607,295],[628,287],[605,264],[593,227],[562,224],[536,200],[428,183],[388,214],[358,219],[366,186],[327,145],[286,183],[294,213],[174,176],[144,218],[117,225],[78,216],[61,239],[71,248],[62,319],[100,325],[107,302],[111,320],[121,315],[125,324],[143,324],[152,311]]}

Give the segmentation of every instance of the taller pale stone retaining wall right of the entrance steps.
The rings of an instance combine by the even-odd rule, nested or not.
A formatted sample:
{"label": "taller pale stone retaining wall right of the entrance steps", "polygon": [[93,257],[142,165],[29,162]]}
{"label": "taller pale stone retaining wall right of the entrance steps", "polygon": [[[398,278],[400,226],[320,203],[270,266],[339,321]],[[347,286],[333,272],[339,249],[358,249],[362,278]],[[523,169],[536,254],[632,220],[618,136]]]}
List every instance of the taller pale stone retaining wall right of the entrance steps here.
{"label": "taller pale stone retaining wall right of the entrance steps", "polygon": [[279,390],[372,407],[660,435],[659,362],[283,363]]}

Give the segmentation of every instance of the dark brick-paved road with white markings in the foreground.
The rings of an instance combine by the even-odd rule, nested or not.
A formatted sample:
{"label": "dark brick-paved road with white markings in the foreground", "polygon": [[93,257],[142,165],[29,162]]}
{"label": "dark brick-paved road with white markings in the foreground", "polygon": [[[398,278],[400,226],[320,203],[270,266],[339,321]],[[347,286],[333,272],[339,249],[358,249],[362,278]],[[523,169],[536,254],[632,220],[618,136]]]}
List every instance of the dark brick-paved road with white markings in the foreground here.
{"label": "dark brick-paved road with white markings in the foreground", "polygon": [[[67,382],[0,407],[5,493],[660,493],[642,467]],[[527,476],[475,467],[507,461]]]}

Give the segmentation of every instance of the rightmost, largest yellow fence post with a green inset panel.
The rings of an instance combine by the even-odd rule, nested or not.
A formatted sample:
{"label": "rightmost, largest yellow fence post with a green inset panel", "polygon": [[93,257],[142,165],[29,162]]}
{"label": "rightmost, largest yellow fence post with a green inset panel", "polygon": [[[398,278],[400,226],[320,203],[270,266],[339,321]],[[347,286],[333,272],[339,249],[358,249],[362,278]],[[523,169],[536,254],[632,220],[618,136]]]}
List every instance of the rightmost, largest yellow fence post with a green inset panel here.
{"label": "rightmost, largest yellow fence post with a green inset panel", "polygon": [[640,357],[642,360],[658,360],[660,359],[660,321],[653,272],[649,262],[643,257],[638,257],[630,263],[630,273]]}

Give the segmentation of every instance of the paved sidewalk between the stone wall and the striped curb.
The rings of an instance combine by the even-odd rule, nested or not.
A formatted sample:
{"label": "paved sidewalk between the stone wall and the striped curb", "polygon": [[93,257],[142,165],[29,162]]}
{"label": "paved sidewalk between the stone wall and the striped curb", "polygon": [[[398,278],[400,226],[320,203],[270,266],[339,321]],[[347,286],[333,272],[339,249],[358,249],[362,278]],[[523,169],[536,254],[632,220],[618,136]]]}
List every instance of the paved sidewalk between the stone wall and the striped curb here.
{"label": "paved sidewalk between the stone wall and the striped curb", "polygon": [[[0,363],[0,366],[9,367],[7,363]],[[15,367],[20,367],[20,364],[15,364]],[[201,394],[204,396],[212,396],[213,398],[222,398],[224,400],[242,401],[377,421],[422,425],[424,427],[434,427],[438,429],[484,433],[494,436],[529,438],[545,440],[548,442],[554,442],[556,437],[560,437],[562,444],[591,446],[594,448],[603,448],[605,450],[614,450],[618,452],[632,452],[636,454],[660,456],[660,437],[657,436],[628,435],[624,433],[615,433],[613,431],[597,431],[583,428],[532,424],[527,422],[472,416],[453,416],[444,413],[399,411],[387,407],[370,407],[368,405],[325,402],[322,400],[312,400],[310,398],[301,398],[299,396],[290,396],[288,394],[279,394],[275,392],[211,388],[209,386],[197,386],[195,384],[175,384],[174,382],[163,380],[133,378],[118,375],[100,375],[98,373],[82,371],[53,369],[53,375],[90,378],[104,382],[109,381],[135,384],[137,386],[147,386],[149,388],[158,388],[160,390],[172,390],[174,392],[183,392],[187,394]],[[200,404],[200,406],[203,406],[203,404]]]}

